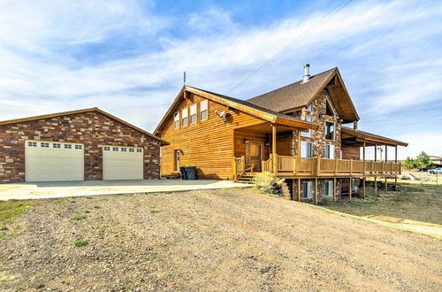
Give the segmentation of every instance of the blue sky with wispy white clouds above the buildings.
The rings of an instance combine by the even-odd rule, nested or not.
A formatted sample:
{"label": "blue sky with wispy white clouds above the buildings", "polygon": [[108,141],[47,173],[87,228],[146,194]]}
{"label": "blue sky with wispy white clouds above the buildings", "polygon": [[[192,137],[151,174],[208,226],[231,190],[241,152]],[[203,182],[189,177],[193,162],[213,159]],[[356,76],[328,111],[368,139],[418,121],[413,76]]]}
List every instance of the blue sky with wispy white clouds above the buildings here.
{"label": "blue sky with wispy white clouds above the buildings", "polygon": [[[153,131],[187,84],[225,94],[337,1],[0,0],[0,119],[97,106]],[[357,1],[230,93],[338,66],[360,128],[442,155],[442,2]],[[390,151],[392,152],[392,151]]]}

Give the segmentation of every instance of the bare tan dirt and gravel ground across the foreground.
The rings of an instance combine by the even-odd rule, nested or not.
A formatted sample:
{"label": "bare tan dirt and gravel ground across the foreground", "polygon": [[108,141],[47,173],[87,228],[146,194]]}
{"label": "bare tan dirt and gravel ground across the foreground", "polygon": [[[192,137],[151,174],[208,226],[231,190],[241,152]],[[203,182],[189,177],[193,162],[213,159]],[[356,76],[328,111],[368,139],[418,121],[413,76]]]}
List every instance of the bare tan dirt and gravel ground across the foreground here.
{"label": "bare tan dirt and gravel ground across the foreground", "polygon": [[2,232],[4,290],[442,289],[442,242],[253,189],[42,199]]}

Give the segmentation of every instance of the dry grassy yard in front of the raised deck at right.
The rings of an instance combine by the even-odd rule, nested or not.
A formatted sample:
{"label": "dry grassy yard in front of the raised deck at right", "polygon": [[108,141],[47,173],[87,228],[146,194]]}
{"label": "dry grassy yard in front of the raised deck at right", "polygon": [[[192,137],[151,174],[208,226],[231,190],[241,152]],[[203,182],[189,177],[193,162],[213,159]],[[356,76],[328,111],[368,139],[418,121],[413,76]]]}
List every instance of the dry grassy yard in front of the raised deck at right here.
{"label": "dry grassy yard in front of the raised deck at right", "polygon": [[325,208],[356,216],[387,216],[442,224],[442,187],[401,186],[400,191],[367,192],[365,199],[327,202]]}

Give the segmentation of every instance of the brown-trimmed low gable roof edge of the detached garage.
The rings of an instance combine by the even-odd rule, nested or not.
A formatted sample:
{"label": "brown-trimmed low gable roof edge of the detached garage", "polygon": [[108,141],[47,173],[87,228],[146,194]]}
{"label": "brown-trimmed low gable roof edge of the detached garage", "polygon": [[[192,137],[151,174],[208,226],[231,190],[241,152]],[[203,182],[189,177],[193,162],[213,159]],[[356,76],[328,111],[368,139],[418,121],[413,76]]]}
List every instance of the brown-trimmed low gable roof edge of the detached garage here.
{"label": "brown-trimmed low gable roof edge of the detached garage", "polygon": [[42,116],[34,116],[34,117],[23,118],[23,119],[9,119],[9,120],[0,121],[0,126],[9,125],[9,124],[16,124],[16,123],[22,123],[22,122],[26,122],[26,121],[30,121],[30,120],[37,120],[37,119],[50,119],[50,118],[55,118],[55,117],[60,117],[60,116],[67,116],[67,115],[83,113],[83,112],[90,112],[90,111],[95,111],[95,112],[101,113],[105,117],[108,117],[110,119],[114,119],[114,120],[120,122],[121,124],[126,125],[127,127],[131,127],[135,131],[138,131],[141,134],[145,134],[145,135],[155,139],[156,141],[161,142],[162,145],[169,145],[169,142],[166,142],[163,139],[158,138],[156,135],[150,134],[149,132],[141,129],[140,127],[135,127],[132,124],[124,121],[123,119],[118,119],[117,117],[111,115],[109,112],[100,110],[97,107],[93,107],[93,108],[89,108],[89,109],[84,109],[84,110],[77,110],[77,111],[64,111],[64,112],[50,113],[50,114],[45,114],[45,115],[42,115]]}

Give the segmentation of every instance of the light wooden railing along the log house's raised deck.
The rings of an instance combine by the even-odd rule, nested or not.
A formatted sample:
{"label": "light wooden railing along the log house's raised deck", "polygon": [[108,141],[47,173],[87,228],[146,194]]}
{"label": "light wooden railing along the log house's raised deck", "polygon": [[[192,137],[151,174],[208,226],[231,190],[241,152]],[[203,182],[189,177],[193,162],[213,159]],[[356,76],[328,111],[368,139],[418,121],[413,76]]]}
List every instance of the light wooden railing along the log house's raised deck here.
{"label": "light wooden railing along the log house's raised deck", "polygon": [[[276,160],[273,160],[276,159]],[[275,171],[275,168],[276,171]],[[271,155],[262,162],[262,171],[283,178],[349,178],[349,177],[395,177],[400,174],[400,163],[374,162],[348,159],[299,158]],[[234,158],[235,177],[253,176],[255,172],[245,165],[243,157]]]}

